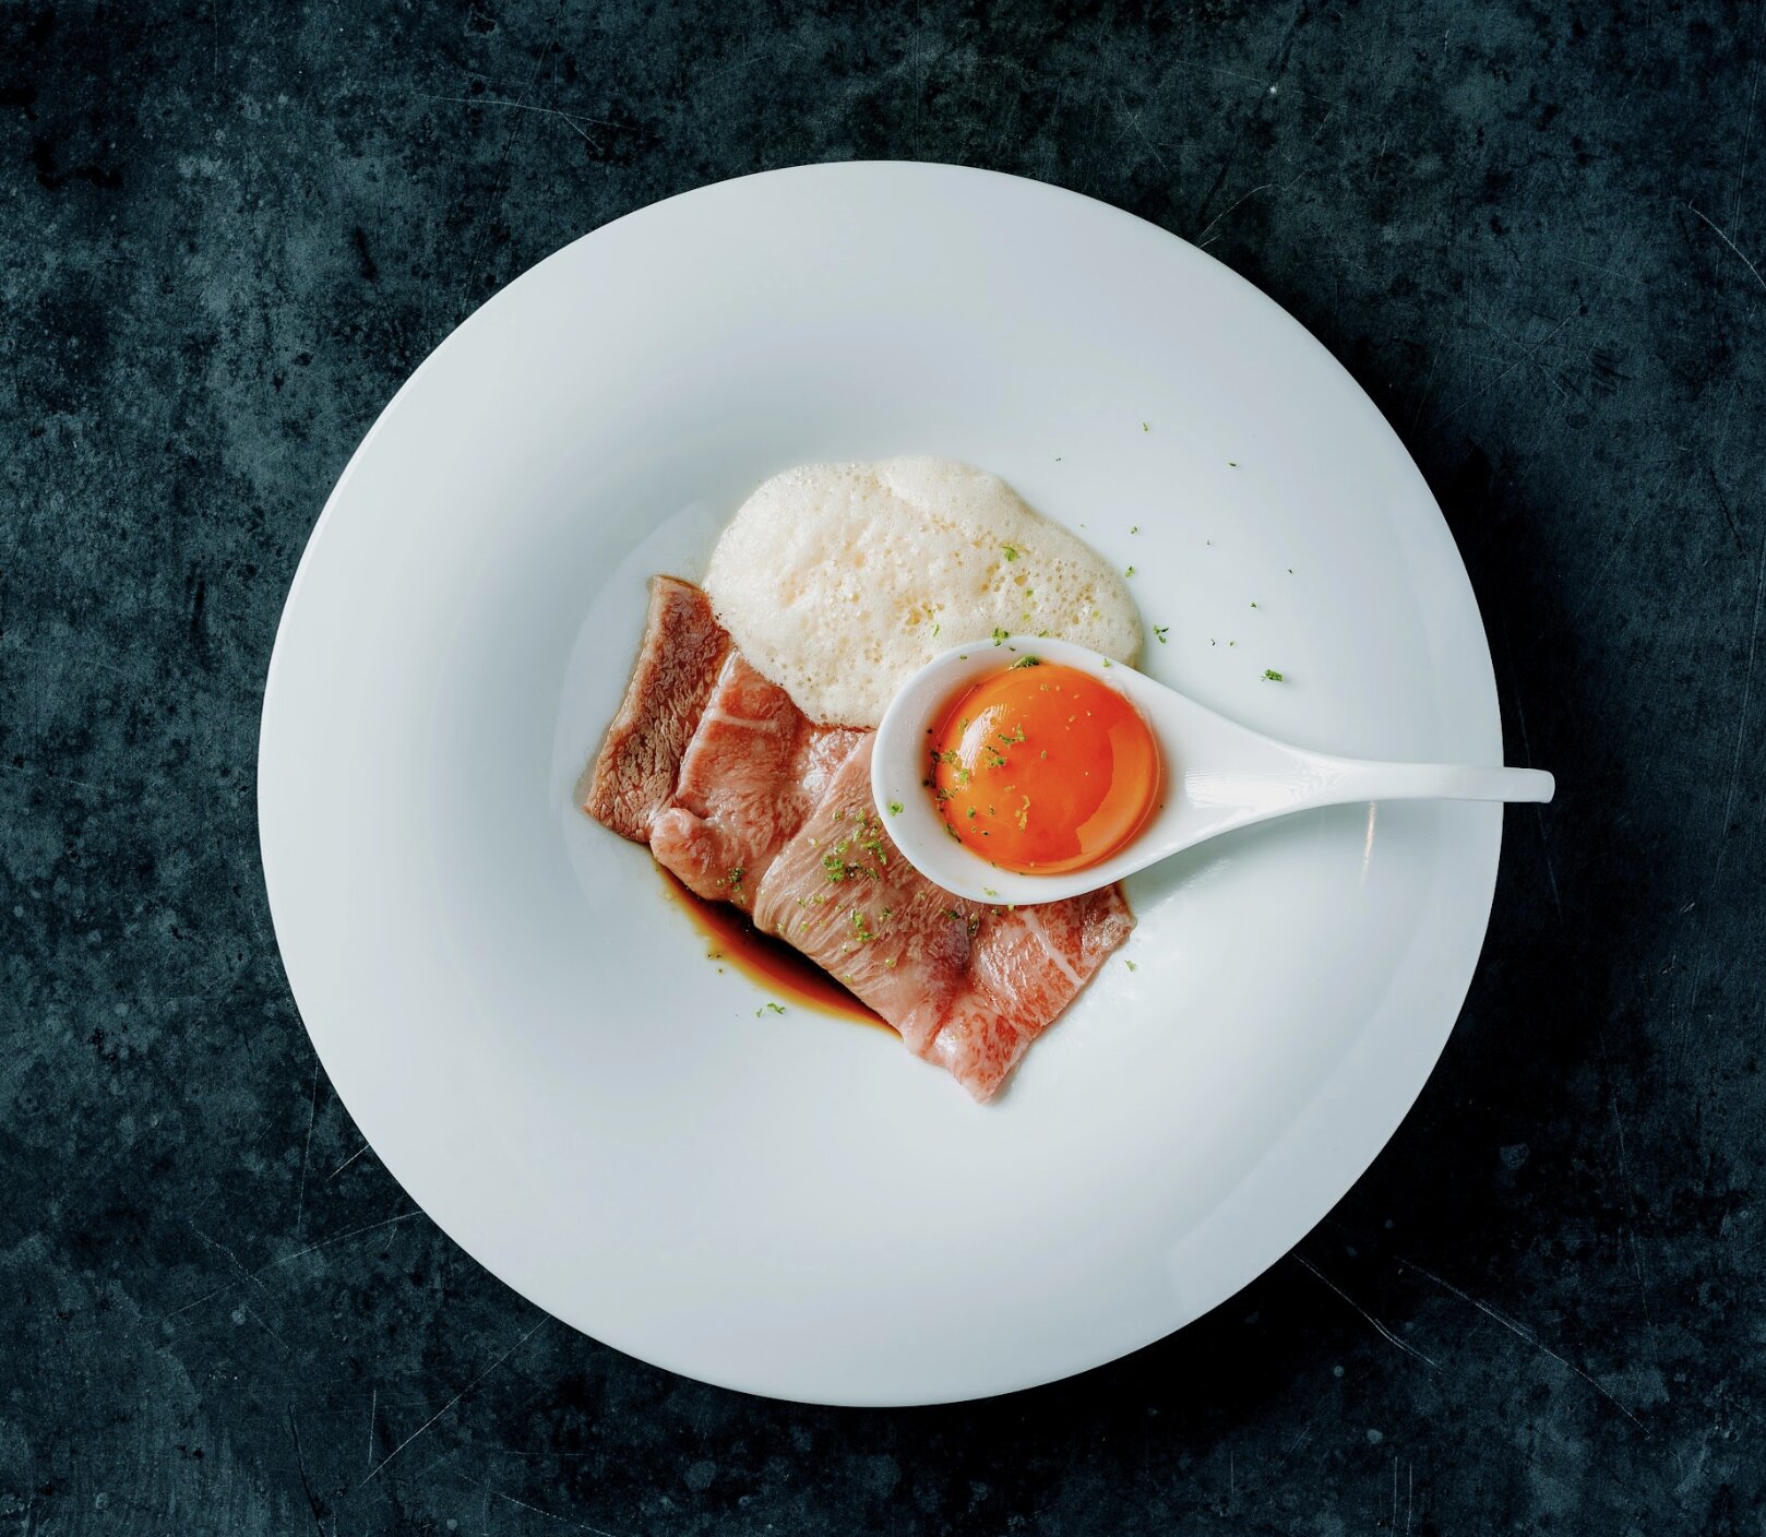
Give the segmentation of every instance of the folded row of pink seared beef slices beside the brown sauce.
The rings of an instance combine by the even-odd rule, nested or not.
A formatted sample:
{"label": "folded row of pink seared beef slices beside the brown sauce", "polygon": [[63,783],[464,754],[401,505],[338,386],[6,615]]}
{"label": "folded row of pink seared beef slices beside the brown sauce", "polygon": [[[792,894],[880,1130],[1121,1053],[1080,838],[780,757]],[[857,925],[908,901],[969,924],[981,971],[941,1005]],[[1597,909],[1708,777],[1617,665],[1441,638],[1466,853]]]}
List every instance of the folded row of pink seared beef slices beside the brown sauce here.
{"label": "folded row of pink seared beef slices beside the brown sauce", "polygon": [[751,910],[989,1099],[1134,917],[1116,887],[998,908],[932,885],[871,800],[872,738],[812,724],[699,588],[659,576],[583,809],[699,896]]}

